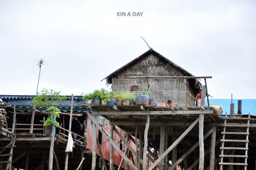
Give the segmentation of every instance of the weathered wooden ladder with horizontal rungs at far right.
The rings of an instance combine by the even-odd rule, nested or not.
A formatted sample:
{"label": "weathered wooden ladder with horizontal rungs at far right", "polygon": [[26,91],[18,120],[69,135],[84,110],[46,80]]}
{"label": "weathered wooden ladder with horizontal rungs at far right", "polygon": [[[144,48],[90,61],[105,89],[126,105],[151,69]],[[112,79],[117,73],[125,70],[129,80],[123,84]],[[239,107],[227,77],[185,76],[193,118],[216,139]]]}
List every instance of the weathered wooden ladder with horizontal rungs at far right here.
{"label": "weathered wooden ladder with horizontal rungs at far right", "polygon": [[[227,112],[224,117],[224,128],[223,132],[221,132],[222,139],[221,139],[221,155],[219,157],[221,158],[219,165],[220,165],[220,170],[223,170],[223,165],[228,166],[228,170],[237,170],[238,166],[244,166],[244,170],[247,169],[247,152],[248,152],[248,143],[249,143],[249,127],[250,127],[250,114],[248,117],[227,117]],[[246,121],[247,124],[241,124],[242,121]],[[227,123],[227,121],[235,122],[232,124]],[[239,122],[240,121],[240,122]],[[233,127],[233,128],[232,128]],[[226,129],[227,128],[227,129]],[[236,130],[234,132],[234,129]],[[230,132],[232,131],[233,132]],[[243,139],[245,138],[246,139]],[[226,138],[225,138],[226,137]],[[227,142],[229,144],[230,142],[235,143],[234,145],[230,147],[225,147],[224,143]],[[227,145],[226,144],[226,145]],[[235,147],[235,146],[244,146],[245,147]],[[244,153],[245,154],[241,154]],[[228,161],[223,162],[223,158],[228,158]],[[236,163],[234,163],[234,158],[236,159]],[[244,160],[244,161],[242,161]]]}

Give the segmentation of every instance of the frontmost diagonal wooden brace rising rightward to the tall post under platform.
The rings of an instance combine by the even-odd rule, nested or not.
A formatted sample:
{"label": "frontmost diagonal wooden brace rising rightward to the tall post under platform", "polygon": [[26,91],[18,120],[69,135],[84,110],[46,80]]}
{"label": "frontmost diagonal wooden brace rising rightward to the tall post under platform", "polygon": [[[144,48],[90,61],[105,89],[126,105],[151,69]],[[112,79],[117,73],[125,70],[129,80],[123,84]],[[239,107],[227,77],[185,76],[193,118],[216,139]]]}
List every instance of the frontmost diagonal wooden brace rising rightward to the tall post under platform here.
{"label": "frontmost diagonal wooden brace rising rightward to the tall post under platform", "polygon": [[197,118],[191,126],[188,127],[188,129],[182,133],[182,135],[180,137],[178,137],[178,139],[162,154],[159,156],[159,158],[153,163],[153,165],[148,169],[148,170],[152,170],[170,151],[172,151],[172,149],[178,145],[178,143],[180,143],[180,141],[188,134],[189,131],[191,131],[191,129],[193,129],[193,127],[197,124],[197,122],[199,121],[199,118]]}

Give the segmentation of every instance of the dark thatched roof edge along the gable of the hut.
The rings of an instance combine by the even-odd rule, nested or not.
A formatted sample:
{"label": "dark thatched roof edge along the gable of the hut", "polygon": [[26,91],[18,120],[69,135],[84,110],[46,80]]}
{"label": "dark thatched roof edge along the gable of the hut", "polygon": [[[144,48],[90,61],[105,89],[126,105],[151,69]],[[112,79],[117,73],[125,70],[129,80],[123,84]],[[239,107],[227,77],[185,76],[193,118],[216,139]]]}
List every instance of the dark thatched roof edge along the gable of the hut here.
{"label": "dark thatched roof edge along the gable of the hut", "polygon": [[[117,73],[120,73],[122,71],[124,71],[126,68],[130,67],[131,65],[135,64],[138,60],[142,59],[143,57],[147,56],[148,54],[155,54],[157,56],[159,56],[162,60],[166,61],[167,63],[173,65],[174,67],[176,67],[178,70],[183,71],[184,72],[184,76],[194,76],[191,73],[189,73],[188,71],[186,71],[184,68],[178,66],[177,64],[173,63],[172,61],[170,61],[168,58],[164,57],[163,55],[161,55],[160,53],[156,52],[153,49],[148,50],[147,52],[143,53],[142,55],[140,55],[139,57],[133,59],[132,61],[130,61],[129,63],[125,64],[123,67],[118,68],[116,71],[114,71],[113,73],[111,73],[110,75],[106,76],[106,84],[112,84],[112,77],[116,76]],[[103,79],[104,80],[104,79]],[[195,88],[197,90],[199,90],[202,87],[202,84],[197,80],[193,80],[192,82],[195,83]]]}

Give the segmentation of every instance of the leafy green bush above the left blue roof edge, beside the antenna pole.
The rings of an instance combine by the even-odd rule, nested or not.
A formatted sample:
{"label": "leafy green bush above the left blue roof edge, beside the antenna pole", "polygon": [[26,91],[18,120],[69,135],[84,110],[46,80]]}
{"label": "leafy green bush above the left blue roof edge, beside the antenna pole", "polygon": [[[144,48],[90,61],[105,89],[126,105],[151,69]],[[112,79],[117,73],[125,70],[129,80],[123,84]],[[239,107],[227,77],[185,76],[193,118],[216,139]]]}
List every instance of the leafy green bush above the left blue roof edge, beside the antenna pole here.
{"label": "leafy green bush above the left blue roof edge, beside the antenna pole", "polygon": [[41,93],[37,92],[36,99],[32,99],[32,103],[34,103],[35,106],[47,106],[50,107],[50,105],[54,103],[62,103],[67,97],[60,96],[60,91],[54,91],[52,89],[46,89],[43,88],[41,90]]}

